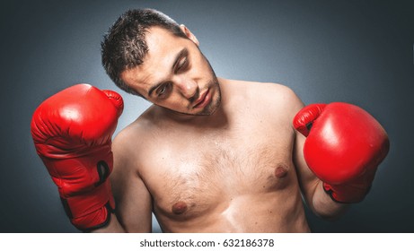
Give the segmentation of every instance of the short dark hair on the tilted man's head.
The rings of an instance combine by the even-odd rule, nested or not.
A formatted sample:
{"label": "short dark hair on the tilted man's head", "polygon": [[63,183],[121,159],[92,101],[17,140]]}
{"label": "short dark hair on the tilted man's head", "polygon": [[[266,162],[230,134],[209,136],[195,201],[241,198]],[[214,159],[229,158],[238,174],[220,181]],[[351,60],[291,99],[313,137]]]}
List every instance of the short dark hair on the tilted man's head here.
{"label": "short dark hair on the tilted man's head", "polygon": [[151,27],[170,30],[186,38],[180,25],[164,13],[153,9],[128,10],[110,26],[101,42],[101,60],[110,79],[123,91],[141,96],[120,79],[120,74],[143,63],[148,52],[145,34]]}

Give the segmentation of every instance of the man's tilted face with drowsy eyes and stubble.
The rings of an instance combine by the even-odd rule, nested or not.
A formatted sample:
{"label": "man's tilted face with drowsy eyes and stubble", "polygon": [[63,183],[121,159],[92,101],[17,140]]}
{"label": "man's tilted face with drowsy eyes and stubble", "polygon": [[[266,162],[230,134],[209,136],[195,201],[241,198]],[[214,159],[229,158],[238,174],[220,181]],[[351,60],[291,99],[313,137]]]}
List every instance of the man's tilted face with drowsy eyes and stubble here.
{"label": "man's tilted face with drowsy eyes and stubble", "polygon": [[216,74],[198,48],[198,40],[153,27],[146,34],[144,63],[121,74],[121,79],[155,105],[181,114],[210,115],[220,104]]}

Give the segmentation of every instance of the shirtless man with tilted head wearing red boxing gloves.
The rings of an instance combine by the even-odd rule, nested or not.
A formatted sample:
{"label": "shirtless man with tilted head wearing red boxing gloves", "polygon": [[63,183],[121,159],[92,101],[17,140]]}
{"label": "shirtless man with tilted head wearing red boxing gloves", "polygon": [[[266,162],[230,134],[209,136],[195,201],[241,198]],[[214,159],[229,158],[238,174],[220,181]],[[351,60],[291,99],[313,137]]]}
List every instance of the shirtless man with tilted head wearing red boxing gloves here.
{"label": "shirtless man with tilted head wearing red boxing gloves", "polygon": [[[114,23],[102,42],[102,63],[121,89],[154,103],[113,143],[122,112],[113,91],[76,85],[46,100],[50,106],[42,104],[32,121],[38,153],[78,229],[150,232],[154,212],[163,232],[309,232],[304,202],[324,218],[338,217],[364,198],[388,151],[381,125],[358,110],[353,117],[374,126],[366,129],[377,145],[369,143],[367,160],[357,166],[348,150],[342,160],[330,152],[322,158],[317,148],[327,143],[311,142],[311,134],[321,137],[316,123],[310,146],[303,134],[315,117],[341,117],[349,106],[301,110],[286,86],[217,78],[194,34],[154,10],[128,11]],[[45,116],[58,108],[65,116]],[[64,143],[49,139],[56,134],[65,134]],[[344,169],[342,163],[346,171],[331,171]]]}

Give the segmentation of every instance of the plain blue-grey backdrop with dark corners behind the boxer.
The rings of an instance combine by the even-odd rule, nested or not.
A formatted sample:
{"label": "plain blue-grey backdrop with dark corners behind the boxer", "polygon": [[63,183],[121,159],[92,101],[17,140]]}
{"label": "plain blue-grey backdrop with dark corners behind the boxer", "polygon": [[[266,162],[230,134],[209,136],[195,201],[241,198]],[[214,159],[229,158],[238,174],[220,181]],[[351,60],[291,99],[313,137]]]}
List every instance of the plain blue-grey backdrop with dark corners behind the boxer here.
{"label": "plain blue-grey backdrop with dark corners behind the boxer", "polygon": [[[31,115],[77,82],[119,91],[101,67],[102,34],[128,8],[151,7],[196,34],[217,75],[283,83],[305,103],[354,103],[383,124],[392,147],[371,193],[339,221],[309,213],[313,231],[414,232],[410,2],[2,1],[0,231],[77,231],[35,153]],[[119,92],[121,129],[148,103]]]}

